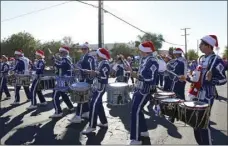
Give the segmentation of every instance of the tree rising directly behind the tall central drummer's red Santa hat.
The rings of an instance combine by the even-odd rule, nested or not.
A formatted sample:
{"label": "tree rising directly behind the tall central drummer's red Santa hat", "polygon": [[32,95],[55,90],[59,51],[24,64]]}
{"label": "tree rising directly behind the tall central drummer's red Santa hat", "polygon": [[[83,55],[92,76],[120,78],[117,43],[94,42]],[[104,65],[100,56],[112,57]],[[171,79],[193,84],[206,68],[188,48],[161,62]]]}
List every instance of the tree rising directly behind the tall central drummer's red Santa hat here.
{"label": "tree rising directly behind the tall central drummer's red Santa hat", "polygon": [[162,48],[162,42],[164,41],[164,38],[161,34],[155,33],[145,33],[142,36],[138,35],[137,38],[138,41],[135,41],[136,47],[138,47],[139,42],[152,41],[157,50]]}

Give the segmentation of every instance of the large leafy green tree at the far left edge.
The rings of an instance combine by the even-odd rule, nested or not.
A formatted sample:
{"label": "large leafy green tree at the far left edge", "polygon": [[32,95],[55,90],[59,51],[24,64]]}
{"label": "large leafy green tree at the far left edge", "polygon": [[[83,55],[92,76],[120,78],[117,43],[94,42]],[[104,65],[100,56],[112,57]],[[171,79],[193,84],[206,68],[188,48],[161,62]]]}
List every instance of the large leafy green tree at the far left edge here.
{"label": "large leafy green tree at the far left edge", "polygon": [[34,53],[31,52],[34,52],[37,49],[38,44],[39,41],[30,33],[19,32],[1,42],[1,53],[12,56],[15,50],[22,49],[26,56],[33,57]]}

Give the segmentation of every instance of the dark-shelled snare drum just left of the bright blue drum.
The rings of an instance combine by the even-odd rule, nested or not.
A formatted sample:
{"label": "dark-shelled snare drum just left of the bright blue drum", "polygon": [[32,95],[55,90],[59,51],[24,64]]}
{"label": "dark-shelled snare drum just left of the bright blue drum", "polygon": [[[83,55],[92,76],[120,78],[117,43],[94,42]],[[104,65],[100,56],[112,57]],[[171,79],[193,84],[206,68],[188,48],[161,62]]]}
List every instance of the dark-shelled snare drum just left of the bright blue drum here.
{"label": "dark-shelled snare drum just left of the bright blue drum", "polygon": [[55,78],[52,76],[46,76],[40,78],[38,90],[49,90],[55,88]]}

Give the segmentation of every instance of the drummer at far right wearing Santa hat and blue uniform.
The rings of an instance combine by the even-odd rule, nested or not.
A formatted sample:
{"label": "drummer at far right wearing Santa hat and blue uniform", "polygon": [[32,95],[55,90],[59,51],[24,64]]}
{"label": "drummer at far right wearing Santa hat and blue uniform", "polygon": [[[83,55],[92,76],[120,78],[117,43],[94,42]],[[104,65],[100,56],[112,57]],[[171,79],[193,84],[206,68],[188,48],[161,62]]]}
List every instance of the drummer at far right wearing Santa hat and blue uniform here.
{"label": "drummer at far right wearing Santa hat and blue uniform", "polygon": [[[219,56],[215,57],[213,48],[218,47],[218,40],[215,35],[207,35],[201,39],[200,50],[205,56],[202,58],[202,86],[200,88],[198,99],[201,102],[208,103],[212,107],[216,97],[215,86],[224,85],[227,82],[224,62]],[[180,77],[184,80],[184,77]],[[187,81],[190,78],[187,77]],[[195,128],[194,135],[199,145],[212,145],[210,120],[206,129]]]}

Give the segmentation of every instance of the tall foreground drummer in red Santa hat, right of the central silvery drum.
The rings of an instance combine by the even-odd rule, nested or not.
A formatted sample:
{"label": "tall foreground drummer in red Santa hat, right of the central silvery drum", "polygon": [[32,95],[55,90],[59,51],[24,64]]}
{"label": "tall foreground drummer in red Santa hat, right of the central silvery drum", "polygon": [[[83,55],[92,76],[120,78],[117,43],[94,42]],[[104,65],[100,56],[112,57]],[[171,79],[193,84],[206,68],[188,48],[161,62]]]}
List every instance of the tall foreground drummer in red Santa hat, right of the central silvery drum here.
{"label": "tall foreground drummer in red Santa hat, right of the central silvery drum", "polygon": [[142,112],[143,107],[151,98],[151,92],[156,90],[158,76],[158,62],[156,50],[152,42],[146,41],[139,45],[141,55],[144,57],[139,66],[138,80],[133,94],[131,110],[131,145],[142,144],[140,136],[148,137],[148,129]]}

